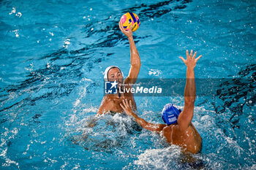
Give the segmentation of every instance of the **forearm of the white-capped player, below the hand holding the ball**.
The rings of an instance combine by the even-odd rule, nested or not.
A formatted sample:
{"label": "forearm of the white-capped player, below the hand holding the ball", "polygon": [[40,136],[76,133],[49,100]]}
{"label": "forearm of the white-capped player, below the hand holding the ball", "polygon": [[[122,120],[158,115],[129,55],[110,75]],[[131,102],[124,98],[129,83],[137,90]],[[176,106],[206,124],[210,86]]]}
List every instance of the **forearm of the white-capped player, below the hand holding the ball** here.
{"label": "forearm of the white-capped player, below the hand holding the ball", "polygon": [[133,37],[130,36],[130,37],[128,37],[128,39],[129,39],[129,49],[130,49],[130,53],[131,53],[131,65],[140,67],[140,65],[141,65],[140,55],[138,53],[138,50],[137,50],[137,47],[133,40]]}

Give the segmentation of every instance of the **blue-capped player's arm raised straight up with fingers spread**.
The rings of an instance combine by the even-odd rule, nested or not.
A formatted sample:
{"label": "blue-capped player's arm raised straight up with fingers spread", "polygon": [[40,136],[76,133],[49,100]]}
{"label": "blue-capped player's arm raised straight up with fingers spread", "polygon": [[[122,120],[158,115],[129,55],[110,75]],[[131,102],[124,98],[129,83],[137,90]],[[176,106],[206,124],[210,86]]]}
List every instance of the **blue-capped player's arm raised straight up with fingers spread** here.
{"label": "blue-capped player's arm raised straight up with fingers spread", "polygon": [[184,90],[184,109],[181,112],[181,115],[178,116],[178,128],[181,131],[186,131],[186,129],[189,127],[189,124],[192,121],[193,113],[194,113],[194,104],[195,104],[195,73],[194,68],[199,60],[199,58],[202,56],[200,55],[198,58],[195,58],[197,53],[193,55],[193,50],[191,50],[190,54],[187,50],[187,60],[185,60],[183,57],[181,58],[182,61],[187,66],[187,81],[186,86]]}

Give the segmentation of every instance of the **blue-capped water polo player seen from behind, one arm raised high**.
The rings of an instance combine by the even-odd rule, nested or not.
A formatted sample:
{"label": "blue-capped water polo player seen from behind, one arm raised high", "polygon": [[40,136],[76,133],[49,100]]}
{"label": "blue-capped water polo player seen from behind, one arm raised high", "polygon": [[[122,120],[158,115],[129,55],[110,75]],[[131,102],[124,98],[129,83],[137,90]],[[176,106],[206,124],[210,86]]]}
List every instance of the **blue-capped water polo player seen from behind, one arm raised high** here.
{"label": "blue-capped water polo player seen from behind, one arm raised high", "polygon": [[187,60],[180,57],[187,66],[187,82],[184,90],[184,109],[181,111],[173,104],[166,104],[162,110],[162,119],[166,124],[153,124],[148,123],[146,120],[138,117],[132,111],[132,101],[125,99],[123,104],[120,104],[127,115],[135,117],[135,121],[143,128],[149,131],[156,131],[157,133],[165,136],[169,144],[176,144],[182,148],[183,152],[200,152],[202,148],[202,139],[198,134],[194,125],[192,125],[192,117],[195,104],[195,73],[194,68],[198,59],[195,58],[196,53],[192,56],[193,51],[189,55],[187,50]]}

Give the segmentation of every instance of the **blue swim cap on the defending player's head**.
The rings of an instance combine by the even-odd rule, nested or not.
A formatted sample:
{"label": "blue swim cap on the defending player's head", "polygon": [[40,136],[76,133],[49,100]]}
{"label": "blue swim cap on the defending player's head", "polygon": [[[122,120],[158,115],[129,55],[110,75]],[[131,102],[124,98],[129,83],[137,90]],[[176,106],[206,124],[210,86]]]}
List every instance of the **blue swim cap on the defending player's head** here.
{"label": "blue swim cap on the defending player's head", "polygon": [[162,109],[162,120],[164,120],[167,125],[171,125],[177,122],[180,113],[181,109],[173,106],[173,104],[166,104],[164,109]]}

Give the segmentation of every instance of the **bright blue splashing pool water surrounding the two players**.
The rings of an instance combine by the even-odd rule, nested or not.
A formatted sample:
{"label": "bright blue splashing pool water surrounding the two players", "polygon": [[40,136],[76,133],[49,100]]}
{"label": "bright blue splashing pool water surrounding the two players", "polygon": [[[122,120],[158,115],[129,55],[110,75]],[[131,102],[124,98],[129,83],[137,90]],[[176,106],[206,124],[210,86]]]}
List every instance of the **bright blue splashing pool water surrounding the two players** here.
{"label": "bright blue splashing pool water surrounding the two players", "polygon": [[[192,123],[203,150],[193,157],[205,169],[256,169],[255,1],[0,4],[1,169],[192,169],[180,162],[178,147],[125,115],[83,126],[102,100],[105,68],[129,72],[129,43],[118,28],[125,12],[141,20],[134,33],[139,78],[184,78],[178,56],[193,49],[203,55],[196,77],[244,80],[223,83],[218,96],[197,97]],[[135,101],[140,117],[151,123],[162,123],[168,102],[184,104],[182,96]]]}

